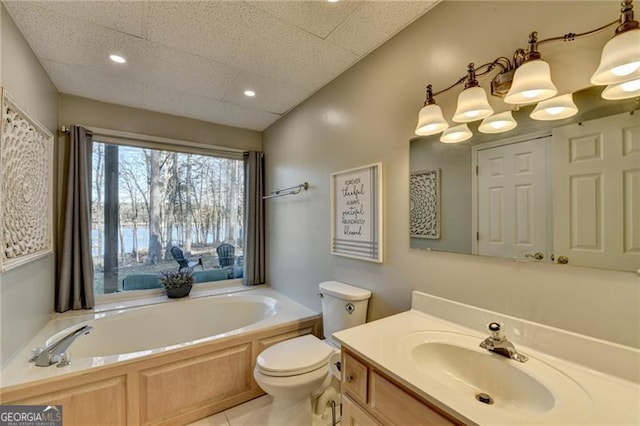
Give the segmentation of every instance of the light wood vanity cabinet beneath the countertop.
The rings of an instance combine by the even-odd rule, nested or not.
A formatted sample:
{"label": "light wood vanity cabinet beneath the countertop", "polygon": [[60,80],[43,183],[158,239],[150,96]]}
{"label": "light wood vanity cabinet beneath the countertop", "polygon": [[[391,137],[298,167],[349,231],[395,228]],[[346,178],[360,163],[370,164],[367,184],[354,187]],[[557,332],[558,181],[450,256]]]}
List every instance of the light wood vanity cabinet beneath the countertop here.
{"label": "light wood vanity cabinet beneath the countertop", "polygon": [[344,425],[464,424],[344,347],[341,386]]}

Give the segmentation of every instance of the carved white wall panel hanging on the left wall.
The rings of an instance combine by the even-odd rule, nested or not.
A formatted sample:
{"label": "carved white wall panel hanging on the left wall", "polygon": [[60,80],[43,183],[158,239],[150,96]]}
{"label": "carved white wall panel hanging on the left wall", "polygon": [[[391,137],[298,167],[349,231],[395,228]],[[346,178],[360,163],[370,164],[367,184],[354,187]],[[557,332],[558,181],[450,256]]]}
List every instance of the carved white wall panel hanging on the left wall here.
{"label": "carved white wall panel hanging on the left wall", "polygon": [[52,252],[53,135],[2,89],[0,270]]}

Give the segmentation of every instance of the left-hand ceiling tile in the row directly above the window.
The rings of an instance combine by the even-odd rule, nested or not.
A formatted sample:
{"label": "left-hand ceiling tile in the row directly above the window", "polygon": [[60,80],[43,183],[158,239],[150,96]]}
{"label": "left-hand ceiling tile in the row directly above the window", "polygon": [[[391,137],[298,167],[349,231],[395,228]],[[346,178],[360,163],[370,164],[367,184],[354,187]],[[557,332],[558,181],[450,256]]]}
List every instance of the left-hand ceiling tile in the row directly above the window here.
{"label": "left-hand ceiling tile in the row directly above the window", "polygon": [[42,65],[61,93],[135,108],[142,107],[143,84],[96,68],[44,60]]}

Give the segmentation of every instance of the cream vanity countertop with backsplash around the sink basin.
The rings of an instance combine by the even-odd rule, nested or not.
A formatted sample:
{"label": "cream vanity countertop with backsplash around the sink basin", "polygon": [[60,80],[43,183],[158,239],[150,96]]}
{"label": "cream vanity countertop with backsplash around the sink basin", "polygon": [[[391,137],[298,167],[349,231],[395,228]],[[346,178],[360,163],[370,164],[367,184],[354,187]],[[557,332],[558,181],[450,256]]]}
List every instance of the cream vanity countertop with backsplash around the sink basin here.
{"label": "cream vanity countertop with backsplash around the sink basin", "polygon": [[[424,298],[429,298],[429,300],[426,303],[422,303],[425,300]],[[450,309],[443,309],[447,308],[447,303],[453,303],[455,306],[451,305],[449,306]],[[527,339],[522,338],[522,335],[520,338],[517,336],[517,333],[522,333],[522,330],[533,335],[534,338],[539,337],[539,340],[547,342],[554,341],[554,339],[556,339],[555,341],[562,341],[563,333],[568,332],[551,329],[544,325],[536,325],[479,308],[468,307],[467,305],[446,301],[445,299],[419,292],[414,292],[412,306],[413,308],[409,311],[337,332],[334,337],[374,367],[393,377],[425,400],[465,424],[640,424],[640,385],[634,381],[637,379],[636,369],[640,368],[640,351],[603,341],[594,342],[594,339],[586,336],[569,333],[570,337],[567,337],[567,342],[572,344],[575,350],[580,350],[580,343],[575,343],[576,339],[587,339],[587,342],[582,342],[582,344],[587,345],[592,352],[589,356],[594,359],[599,358],[599,355],[603,355],[597,353],[599,346],[604,346],[605,349],[603,350],[605,351],[622,351],[621,355],[613,355],[611,361],[622,364],[617,366],[618,369],[622,369],[620,371],[628,369],[629,377],[616,377],[610,372],[598,371],[592,365],[587,367],[578,364],[575,360],[563,359],[557,355],[552,356],[547,351],[542,352],[539,348],[535,348],[535,345],[527,346],[517,343],[517,340],[527,341]],[[465,307],[469,308],[468,311]],[[505,325],[505,329],[507,329],[507,337],[511,337],[509,330],[512,332],[515,339],[510,340],[514,342],[517,350],[531,358],[530,361],[522,364],[522,366],[516,365],[517,368],[521,368],[522,371],[526,372],[528,368],[533,368],[537,363],[544,368],[551,368],[556,374],[560,372],[559,374],[564,377],[563,380],[568,381],[571,386],[582,394],[582,400],[577,401],[573,396],[567,398],[567,395],[562,395],[563,392],[558,391],[556,393],[555,390],[557,389],[554,389],[552,391],[554,404],[551,404],[552,408],[549,410],[527,412],[526,410],[520,411],[518,407],[513,408],[514,406],[507,410],[496,409],[495,407],[499,406],[497,402],[496,406],[481,404],[473,396],[469,397],[464,395],[464,392],[454,391],[453,388],[443,386],[442,383],[434,381],[432,376],[423,374],[415,363],[411,361],[410,354],[407,354],[407,346],[403,342],[407,342],[407,339],[420,340],[422,336],[429,335],[429,333],[432,335],[440,333],[440,335],[463,336],[472,342],[477,339],[479,344],[488,336],[488,333],[483,333],[475,329],[476,327],[466,327],[459,324],[458,321],[449,321],[452,318],[445,320],[427,314],[422,311],[425,308],[429,308],[430,312],[435,311],[438,313],[460,313],[462,309],[467,313],[462,315],[465,318],[461,322],[464,324],[469,320],[477,320],[480,322],[479,329],[486,327],[486,324],[490,321],[502,322]],[[509,325],[510,327],[507,327]],[[556,334],[555,337],[553,336],[554,333]],[[549,337],[550,335],[551,337]],[[530,339],[531,337],[529,336]],[[611,345],[613,345],[613,349],[607,348]],[[475,346],[475,343],[473,346]],[[480,349],[479,351],[482,354],[484,350]],[[561,348],[559,352],[566,352],[566,348]],[[569,352],[571,351],[569,350]],[[488,352],[487,354],[490,357],[497,357],[496,361],[498,362],[520,364],[517,361],[499,355],[489,354]],[[567,357],[564,356],[564,358]],[[627,365],[624,365],[625,363]],[[635,365],[633,365],[634,363]],[[466,365],[470,369],[474,368],[471,363]],[[502,379],[502,377],[498,378],[498,380]],[[453,377],[453,380],[460,381],[464,380],[464,378]],[[549,384],[553,386],[554,380],[550,381]],[[527,396],[525,395],[524,398],[527,398]],[[564,407],[564,412],[557,409],[558,407]]]}

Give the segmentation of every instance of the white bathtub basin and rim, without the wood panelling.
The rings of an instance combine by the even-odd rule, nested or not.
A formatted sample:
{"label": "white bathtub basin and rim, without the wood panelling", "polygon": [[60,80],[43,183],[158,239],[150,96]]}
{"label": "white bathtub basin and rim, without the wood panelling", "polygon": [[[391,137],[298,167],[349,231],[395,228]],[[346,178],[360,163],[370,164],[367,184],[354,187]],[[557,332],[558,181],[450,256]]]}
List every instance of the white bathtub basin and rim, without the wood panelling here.
{"label": "white bathtub basin and rim, without the wood panelling", "polygon": [[[220,292],[218,289],[169,301],[162,296],[152,299],[154,304],[149,306],[60,315],[2,370],[2,386],[136,360],[318,316],[266,287],[224,291],[231,292],[211,294]],[[32,348],[47,346],[82,325],[90,325],[93,330],[70,346],[70,365],[37,367],[28,362]]]}

